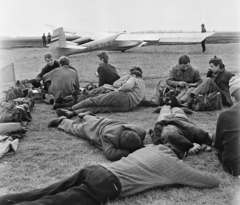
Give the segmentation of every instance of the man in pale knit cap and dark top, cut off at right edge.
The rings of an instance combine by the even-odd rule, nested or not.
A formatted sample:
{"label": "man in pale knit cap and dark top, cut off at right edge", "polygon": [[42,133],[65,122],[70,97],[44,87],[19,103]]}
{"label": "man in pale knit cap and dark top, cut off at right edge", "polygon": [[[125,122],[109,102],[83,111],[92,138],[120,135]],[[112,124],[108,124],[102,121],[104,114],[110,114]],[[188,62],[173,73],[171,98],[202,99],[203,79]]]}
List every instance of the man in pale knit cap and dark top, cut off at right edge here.
{"label": "man in pale knit cap and dark top, cut off at right edge", "polygon": [[223,111],[217,120],[213,146],[218,150],[218,159],[223,168],[233,176],[240,175],[240,78],[230,79],[230,94],[237,103]]}

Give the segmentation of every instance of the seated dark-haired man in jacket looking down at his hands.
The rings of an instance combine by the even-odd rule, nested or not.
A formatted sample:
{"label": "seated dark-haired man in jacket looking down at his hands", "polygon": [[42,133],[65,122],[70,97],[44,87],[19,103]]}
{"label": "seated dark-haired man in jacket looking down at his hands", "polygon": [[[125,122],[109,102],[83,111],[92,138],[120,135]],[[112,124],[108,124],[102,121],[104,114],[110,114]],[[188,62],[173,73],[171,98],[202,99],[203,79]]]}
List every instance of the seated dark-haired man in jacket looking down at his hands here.
{"label": "seated dark-haired man in jacket looking down at his hands", "polygon": [[201,82],[199,70],[190,64],[190,58],[187,55],[179,57],[178,64],[171,67],[166,80],[168,86],[181,90],[176,97],[181,103],[187,101],[189,93]]}

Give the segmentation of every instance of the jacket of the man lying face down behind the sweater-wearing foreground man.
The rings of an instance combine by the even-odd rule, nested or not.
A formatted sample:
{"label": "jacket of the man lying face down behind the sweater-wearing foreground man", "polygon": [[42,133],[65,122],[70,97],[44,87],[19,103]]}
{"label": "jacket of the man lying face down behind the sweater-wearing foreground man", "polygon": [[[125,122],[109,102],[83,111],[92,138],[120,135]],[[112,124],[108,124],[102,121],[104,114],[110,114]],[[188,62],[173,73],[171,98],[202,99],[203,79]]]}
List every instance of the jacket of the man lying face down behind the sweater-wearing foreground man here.
{"label": "jacket of the man lying face down behind the sweater-wearing foreground man", "polygon": [[119,148],[120,136],[124,130],[135,131],[142,142],[145,139],[146,131],[137,125],[89,115],[83,120],[85,121],[82,126],[83,137],[102,149],[106,158],[111,161],[119,160],[129,154],[128,150]]}

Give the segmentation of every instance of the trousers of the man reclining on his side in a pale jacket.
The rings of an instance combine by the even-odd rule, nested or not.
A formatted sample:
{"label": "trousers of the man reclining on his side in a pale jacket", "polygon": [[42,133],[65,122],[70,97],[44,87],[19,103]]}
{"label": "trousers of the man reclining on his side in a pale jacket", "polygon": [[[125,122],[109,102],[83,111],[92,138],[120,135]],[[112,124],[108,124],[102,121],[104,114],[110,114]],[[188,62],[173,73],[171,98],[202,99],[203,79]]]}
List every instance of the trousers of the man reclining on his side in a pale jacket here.
{"label": "trousers of the man reclining on his side in a pale jacket", "polygon": [[120,91],[87,98],[72,106],[72,109],[78,114],[86,111],[91,111],[93,113],[127,112],[131,107],[128,94]]}

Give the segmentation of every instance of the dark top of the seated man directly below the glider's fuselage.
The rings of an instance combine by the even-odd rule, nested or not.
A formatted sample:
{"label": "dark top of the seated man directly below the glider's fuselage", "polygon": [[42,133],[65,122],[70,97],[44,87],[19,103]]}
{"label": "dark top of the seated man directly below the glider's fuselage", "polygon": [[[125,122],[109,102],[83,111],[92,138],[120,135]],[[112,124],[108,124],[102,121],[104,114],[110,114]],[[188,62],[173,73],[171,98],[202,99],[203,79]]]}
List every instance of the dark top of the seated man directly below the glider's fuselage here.
{"label": "dark top of the seated man directly below the glider's fuselage", "polygon": [[108,63],[99,65],[97,72],[99,77],[98,87],[104,84],[113,85],[113,83],[120,78],[117,69]]}

